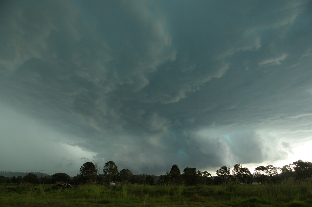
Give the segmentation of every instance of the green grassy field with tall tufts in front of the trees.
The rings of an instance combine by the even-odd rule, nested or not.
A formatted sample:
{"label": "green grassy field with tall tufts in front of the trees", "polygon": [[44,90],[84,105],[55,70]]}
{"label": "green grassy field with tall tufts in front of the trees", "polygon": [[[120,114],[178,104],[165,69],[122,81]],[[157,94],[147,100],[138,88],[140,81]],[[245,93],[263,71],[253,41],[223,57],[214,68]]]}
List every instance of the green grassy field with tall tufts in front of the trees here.
{"label": "green grassy field with tall tufts in front of the trees", "polygon": [[2,184],[0,206],[312,206],[310,180],[261,186],[83,185],[76,191],[51,186]]}

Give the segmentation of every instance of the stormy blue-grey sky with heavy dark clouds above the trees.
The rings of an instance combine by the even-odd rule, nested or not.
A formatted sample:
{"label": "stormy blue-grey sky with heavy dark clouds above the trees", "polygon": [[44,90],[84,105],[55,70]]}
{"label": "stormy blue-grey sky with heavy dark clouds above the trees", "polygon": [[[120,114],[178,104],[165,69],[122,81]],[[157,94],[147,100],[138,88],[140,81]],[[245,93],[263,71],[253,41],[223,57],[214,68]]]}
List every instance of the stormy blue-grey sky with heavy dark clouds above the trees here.
{"label": "stormy blue-grey sky with heavy dark clouds above the trees", "polygon": [[0,171],[312,162],[312,1],[0,2]]}

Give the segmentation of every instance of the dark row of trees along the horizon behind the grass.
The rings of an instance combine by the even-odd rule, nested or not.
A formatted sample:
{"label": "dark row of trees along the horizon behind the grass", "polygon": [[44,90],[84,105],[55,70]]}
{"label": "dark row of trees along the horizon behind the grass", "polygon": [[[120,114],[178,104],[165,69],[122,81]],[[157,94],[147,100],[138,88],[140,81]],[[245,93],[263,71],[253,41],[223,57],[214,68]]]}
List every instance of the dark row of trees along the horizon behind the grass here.
{"label": "dark row of trees along the horizon behind the grass", "polygon": [[[101,174],[102,172],[102,174]],[[85,162],[80,167],[77,176],[70,177],[66,173],[56,173],[52,176],[44,176],[38,178],[34,173],[28,173],[26,176],[5,177],[0,176],[0,183],[109,183],[111,181],[119,183],[139,183],[139,184],[176,184],[176,185],[197,185],[197,184],[220,184],[226,182],[236,182],[240,184],[250,184],[251,182],[261,183],[277,183],[289,178],[300,179],[312,177],[312,163],[298,160],[283,167],[274,167],[273,165],[259,166],[254,170],[252,175],[247,167],[243,167],[240,163],[236,163],[232,170],[227,166],[222,166],[216,171],[217,176],[212,177],[207,171],[201,172],[195,167],[186,167],[181,174],[178,165],[173,165],[170,172],[164,175],[133,175],[129,169],[118,171],[115,162],[108,161],[105,163],[103,170],[98,164],[93,162]]]}

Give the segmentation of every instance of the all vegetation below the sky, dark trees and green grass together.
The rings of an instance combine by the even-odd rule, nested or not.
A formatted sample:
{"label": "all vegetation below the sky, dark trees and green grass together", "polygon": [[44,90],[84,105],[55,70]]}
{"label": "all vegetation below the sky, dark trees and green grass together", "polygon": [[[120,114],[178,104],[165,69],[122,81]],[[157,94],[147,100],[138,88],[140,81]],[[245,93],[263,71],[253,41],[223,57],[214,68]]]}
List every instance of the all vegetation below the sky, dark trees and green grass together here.
{"label": "all vegetation below the sky, dark trees and green grass together", "polygon": [[191,167],[181,174],[177,165],[165,175],[144,177],[118,171],[112,161],[100,171],[86,162],[75,177],[0,176],[0,206],[312,206],[312,163],[302,160],[259,166],[253,175],[239,163],[232,171],[222,166],[215,177]]}

